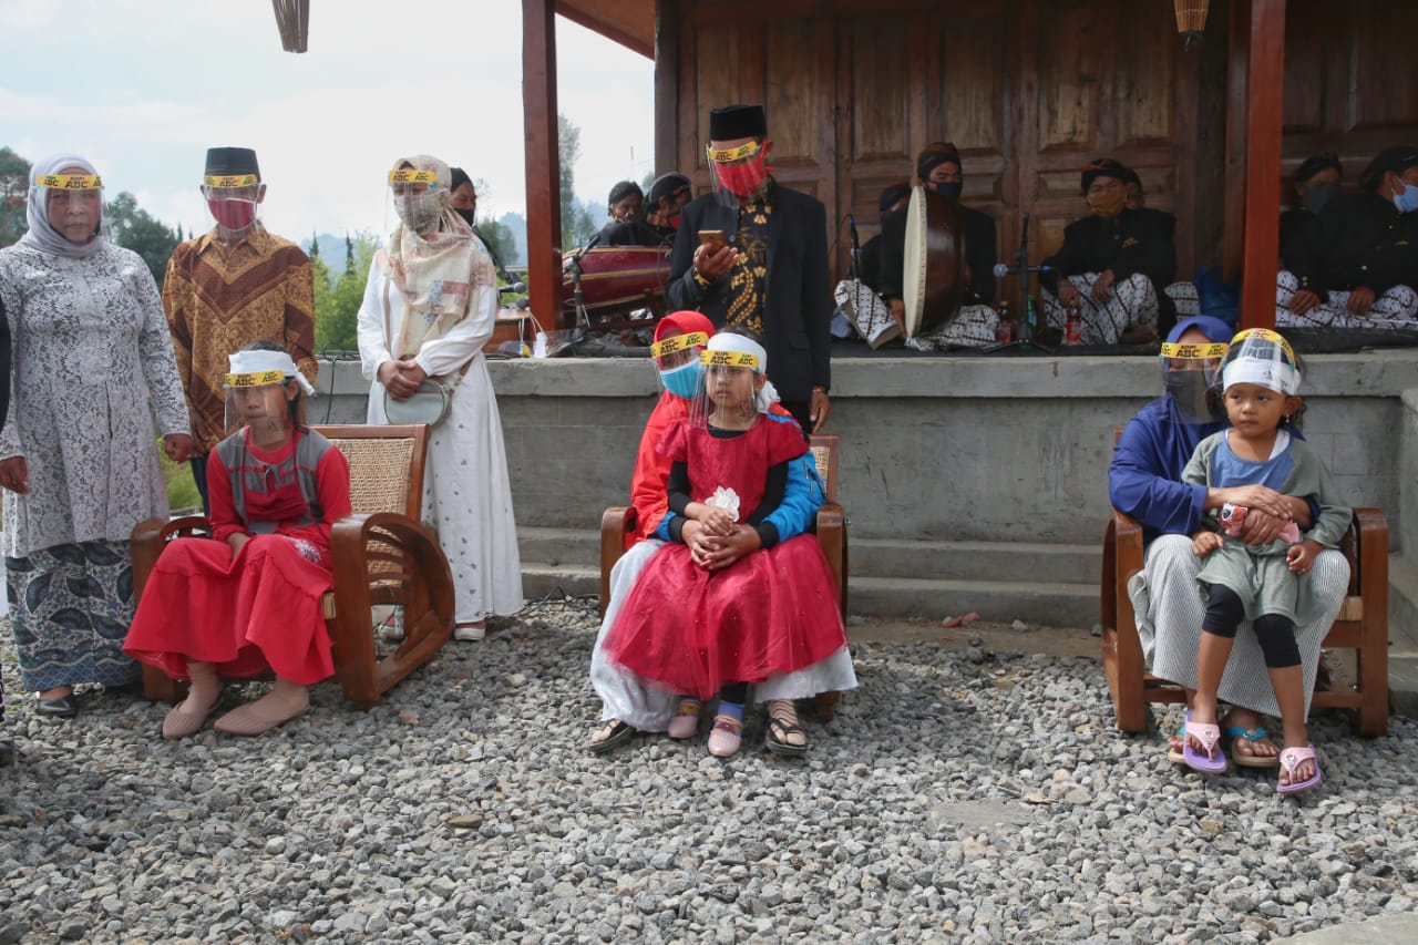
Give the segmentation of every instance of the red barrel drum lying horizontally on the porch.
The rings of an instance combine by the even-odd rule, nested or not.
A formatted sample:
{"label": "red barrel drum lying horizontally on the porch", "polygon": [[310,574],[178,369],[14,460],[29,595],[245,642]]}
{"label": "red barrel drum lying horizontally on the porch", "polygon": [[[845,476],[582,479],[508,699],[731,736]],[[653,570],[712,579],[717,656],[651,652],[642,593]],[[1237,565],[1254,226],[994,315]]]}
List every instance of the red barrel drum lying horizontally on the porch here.
{"label": "red barrel drum lying horizontally on the porch", "polygon": [[607,245],[569,255],[562,264],[562,311],[566,325],[577,324],[576,284],[571,267],[581,264],[581,305],[591,328],[645,325],[631,318],[647,309],[649,321],[665,314],[665,284],[669,281],[669,248],[657,245]]}

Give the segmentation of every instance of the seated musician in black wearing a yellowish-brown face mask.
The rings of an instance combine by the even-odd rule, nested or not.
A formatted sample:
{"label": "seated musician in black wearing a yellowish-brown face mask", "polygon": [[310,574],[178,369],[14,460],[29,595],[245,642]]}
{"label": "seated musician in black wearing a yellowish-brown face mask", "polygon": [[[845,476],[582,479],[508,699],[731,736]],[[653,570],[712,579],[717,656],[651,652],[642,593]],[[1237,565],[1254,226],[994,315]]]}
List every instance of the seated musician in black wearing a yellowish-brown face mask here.
{"label": "seated musician in black wearing a yellowish-brown face mask", "polygon": [[1171,214],[1126,207],[1127,169],[1112,158],[1082,173],[1092,214],[1064,228],[1064,245],[1039,274],[1048,324],[1064,328],[1078,308],[1085,345],[1116,345],[1166,335],[1177,308],[1163,291],[1177,274]]}

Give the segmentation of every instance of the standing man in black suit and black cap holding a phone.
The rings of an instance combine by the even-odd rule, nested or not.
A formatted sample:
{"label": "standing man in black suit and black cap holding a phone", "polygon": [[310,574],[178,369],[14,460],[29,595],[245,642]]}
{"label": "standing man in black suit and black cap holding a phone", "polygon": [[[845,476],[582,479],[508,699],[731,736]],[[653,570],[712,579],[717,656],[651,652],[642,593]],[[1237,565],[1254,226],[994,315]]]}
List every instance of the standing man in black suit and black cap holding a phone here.
{"label": "standing man in black suit and black cap holding a phone", "polygon": [[[681,213],[683,237],[669,257],[671,309],[698,309],[716,328],[757,333],[769,352],[769,380],[804,431],[831,410],[827,210],[820,200],[773,180],[773,149],[761,105],[709,112],[715,192]],[[718,231],[723,241],[700,240]]]}

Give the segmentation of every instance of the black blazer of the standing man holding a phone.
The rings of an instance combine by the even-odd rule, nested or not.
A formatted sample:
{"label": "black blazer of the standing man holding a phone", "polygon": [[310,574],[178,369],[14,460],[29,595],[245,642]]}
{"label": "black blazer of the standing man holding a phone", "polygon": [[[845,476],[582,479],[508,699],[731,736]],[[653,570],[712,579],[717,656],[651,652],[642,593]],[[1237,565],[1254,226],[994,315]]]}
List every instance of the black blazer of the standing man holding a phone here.
{"label": "black blazer of the standing man holding a phone", "polygon": [[[737,209],[723,206],[712,193],[685,204],[679,231],[686,236],[675,240],[665,295],[671,309],[698,309],[716,328],[723,328],[729,311],[729,275],[719,277],[705,289],[695,282],[699,230],[723,230],[725,238],[733,241],[739,233]],[[827,209],[820,200],[774,184],[767,262],[763,348],[769,352],[769,379],[783,400],[807,403],[815,385],[830,387],[832,383]]]}

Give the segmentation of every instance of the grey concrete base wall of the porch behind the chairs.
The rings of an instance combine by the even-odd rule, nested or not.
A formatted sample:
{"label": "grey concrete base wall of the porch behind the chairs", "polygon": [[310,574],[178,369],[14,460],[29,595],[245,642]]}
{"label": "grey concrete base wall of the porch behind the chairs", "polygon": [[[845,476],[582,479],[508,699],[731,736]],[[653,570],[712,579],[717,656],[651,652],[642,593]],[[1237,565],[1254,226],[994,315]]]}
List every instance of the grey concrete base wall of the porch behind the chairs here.
{"label": "grey concrete base wall of the porch behind the chairs", "polygon": [[[1400,485],[1418,451],[1418,352],[1306,359],[1305,434],[1354,505],[1388,514],[1392,545],[1418,539]],[[594,529],[624,504],[658,382],[635,359],[489,363],[518,522]],[[1161,390],[1154,358],[844,358],[832,362],[842,436],[839,499],[852,535],[920,541],[1096,542],[1113,429]],[[323,363],[312,419],[363,420],[357,363]],[[1400,436],[1409,430],[1408,437]],[[1407,444],[1407,446],[1405,446]],[[1407,451],[1405,451],[1407,450]],[[1402,468],[1409,475],[1401,477]],[[1409,518],[1412,521],[1409,521]]]}

